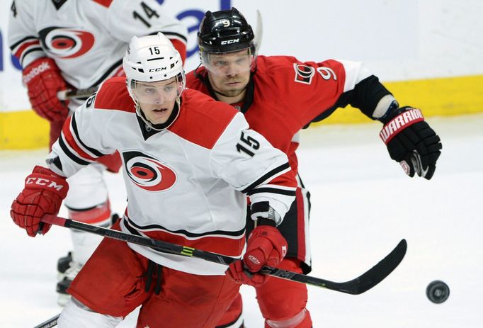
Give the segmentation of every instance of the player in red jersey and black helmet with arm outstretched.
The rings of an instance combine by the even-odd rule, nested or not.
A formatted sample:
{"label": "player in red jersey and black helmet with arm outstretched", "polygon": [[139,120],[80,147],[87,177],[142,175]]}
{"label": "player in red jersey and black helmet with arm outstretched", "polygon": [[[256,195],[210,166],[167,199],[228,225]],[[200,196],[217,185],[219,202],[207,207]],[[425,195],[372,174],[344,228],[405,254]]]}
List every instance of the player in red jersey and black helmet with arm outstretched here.
{"label": "player in red jersey and black helmet with arm outstretched", "polygon": [[[311,270],[309,193],[298,175],[295,154],[300,129],[351,104],[384,124],[381,137],[390,157],[409,176],[433,176],[441,153],[438,135],[419,109],[399,107],[390,91],[360,62],[300,62],[289,56],[257,56],[253,30],[237,9],[208,11],[200,26],[198,46],[202,66],[187,74],[188,88],[244,113],[252,129],[288,155],[297,176],[296,200],[279,227],[288,241],[281,268],[302,273]],[[270,278],[255,287],[265,327],[312,327],[305,285]],[[219,324],[240,327],[241,312],[239,297]]]}

